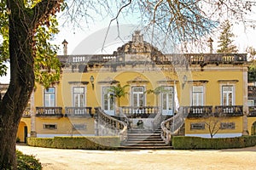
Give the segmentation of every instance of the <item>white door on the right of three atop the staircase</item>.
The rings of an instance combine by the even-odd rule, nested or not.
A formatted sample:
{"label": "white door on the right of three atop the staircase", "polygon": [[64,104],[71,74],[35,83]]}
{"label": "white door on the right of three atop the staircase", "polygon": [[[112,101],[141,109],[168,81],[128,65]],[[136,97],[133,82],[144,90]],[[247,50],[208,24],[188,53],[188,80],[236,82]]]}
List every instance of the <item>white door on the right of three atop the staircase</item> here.
{"label": "white door on the right of three atop the staircase", "polygon": [[161,94],[162,115],[173,115],[173,87],[165,87],[165,92]]}

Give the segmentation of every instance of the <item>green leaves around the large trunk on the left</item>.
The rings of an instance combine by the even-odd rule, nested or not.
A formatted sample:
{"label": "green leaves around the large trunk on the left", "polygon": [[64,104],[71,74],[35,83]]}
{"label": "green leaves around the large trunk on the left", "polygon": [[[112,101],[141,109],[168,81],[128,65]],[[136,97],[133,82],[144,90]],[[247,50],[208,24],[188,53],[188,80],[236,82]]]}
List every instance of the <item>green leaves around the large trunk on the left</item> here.
{"label": "green leaves around the large trunk on the left", "polygon": [[[26,8],[33,8],[39,1],[25,1]],[[0,13],[0,35],[3,43],[0,44],[0,77],[6,75],[6,62],[9,61],[9,19],[6,4],[1,1],[3,13]],[[61,63],[57,59],[58,46],[51,43],[54,35],[59,32],[56,15],[46,16],[44,22],[40,23],[35,30],[33,37],[34,47],[34,71],[35,80],[48,88],[52,83],[57,82],[61,76]]]}

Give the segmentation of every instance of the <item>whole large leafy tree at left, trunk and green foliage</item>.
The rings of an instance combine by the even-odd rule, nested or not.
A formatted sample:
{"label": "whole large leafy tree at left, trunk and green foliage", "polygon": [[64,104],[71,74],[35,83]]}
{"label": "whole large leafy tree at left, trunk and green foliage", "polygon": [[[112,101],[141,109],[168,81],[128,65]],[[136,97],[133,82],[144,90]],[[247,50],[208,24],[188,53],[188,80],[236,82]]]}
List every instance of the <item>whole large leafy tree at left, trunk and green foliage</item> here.
{"label": "whole large leafy tree at left, trunk and green foliage", "polygon": [[[55,81],[60,74],[56,47],[49,46],[55,29],[55,14],[61,10],[61,0],[0,1],[1,44],[0,65],[9,60],[10,82],[0,100],[0,169],[17,169],[15,140],[18,125],[34,89],[37,71],[46,78],[38,82]],[[6,69],[1,66],[1,75]],[[38,74],[42,75],[42,74]]]}

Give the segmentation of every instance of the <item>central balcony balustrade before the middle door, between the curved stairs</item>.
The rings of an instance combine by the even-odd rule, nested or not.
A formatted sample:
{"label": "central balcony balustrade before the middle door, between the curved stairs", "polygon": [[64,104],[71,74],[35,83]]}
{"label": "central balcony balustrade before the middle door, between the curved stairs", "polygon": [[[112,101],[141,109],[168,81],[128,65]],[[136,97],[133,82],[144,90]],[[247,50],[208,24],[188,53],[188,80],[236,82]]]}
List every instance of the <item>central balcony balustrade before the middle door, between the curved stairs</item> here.
{"label": "central balcony balustrade before the middle door, between the curved stairs", "polygon": [[156,106],[123,106],[121,111],[128,118],[154,118],[159,108]]}

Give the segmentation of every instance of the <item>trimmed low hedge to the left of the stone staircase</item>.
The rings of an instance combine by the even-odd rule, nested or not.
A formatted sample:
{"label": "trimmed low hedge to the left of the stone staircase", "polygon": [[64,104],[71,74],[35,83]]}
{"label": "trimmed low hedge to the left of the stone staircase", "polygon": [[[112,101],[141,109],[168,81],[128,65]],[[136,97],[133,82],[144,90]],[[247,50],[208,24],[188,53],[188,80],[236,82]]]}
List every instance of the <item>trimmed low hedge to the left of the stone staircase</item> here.
{"label": "trimmed low hedge to the left of the stone staircase", "polygon": [[115,150],[120,140],[115,136],[28,138],[27,144],[58,149]]}

